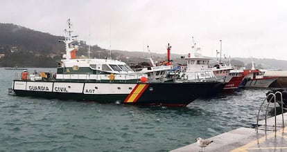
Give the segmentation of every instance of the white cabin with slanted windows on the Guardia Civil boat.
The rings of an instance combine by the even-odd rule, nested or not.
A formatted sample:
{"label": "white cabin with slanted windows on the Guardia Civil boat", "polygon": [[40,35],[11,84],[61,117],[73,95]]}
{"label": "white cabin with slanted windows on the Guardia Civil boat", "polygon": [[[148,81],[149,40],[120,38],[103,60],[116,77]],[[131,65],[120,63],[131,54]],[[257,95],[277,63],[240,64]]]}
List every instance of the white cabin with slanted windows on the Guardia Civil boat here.
{"label": "white cabin with slanted windows on the Guardia Civil boat", "polygon": [[[113,76],[111,76],[113,75]],[[57,68],[56,79],[137,81],[146,74],[134,73],[124,62],[114,59],[63,59]]]}

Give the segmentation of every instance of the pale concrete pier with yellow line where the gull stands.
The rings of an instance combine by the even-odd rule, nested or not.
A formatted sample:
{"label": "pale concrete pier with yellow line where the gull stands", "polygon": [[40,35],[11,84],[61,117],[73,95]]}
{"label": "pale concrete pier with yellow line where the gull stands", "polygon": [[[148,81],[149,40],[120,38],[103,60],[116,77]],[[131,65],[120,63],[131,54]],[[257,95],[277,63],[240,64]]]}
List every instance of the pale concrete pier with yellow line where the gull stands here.
{"label": "pale concrete pier with yellow line where the gull stands", "polygon": [[[256,129],[252,128],[240,128],[227,133],[216,135],[209,138],[213,140],[203,151],[232,151],[232,152],[267,152],[267,151],[287,151],[287,127],[284,127],[285,117],[287,113],[284,113],[284,121],[282,116],[277,115],[270,117],[266,121],[259,122],[258,133]],[[275,119],[277,120],[277,127],[275,129]],[[254,122],[256,123],[256,122]],[[260,126],[261,125],[261,126]],[[200,146],[195,142],[182,148],[175,149],[172,152],[191,152],[201,151]]]}

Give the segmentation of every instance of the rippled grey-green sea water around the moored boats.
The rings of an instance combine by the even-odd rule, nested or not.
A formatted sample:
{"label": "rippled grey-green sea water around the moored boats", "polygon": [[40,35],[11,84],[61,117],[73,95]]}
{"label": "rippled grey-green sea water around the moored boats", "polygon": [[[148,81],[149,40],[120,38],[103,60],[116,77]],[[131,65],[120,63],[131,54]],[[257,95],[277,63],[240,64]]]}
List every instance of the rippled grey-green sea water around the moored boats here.
{"label": "rippled grey-green sea water around the moored boats", "polygon": [[8,95],[15,72],[0,68],[0,151],[171,151],[255,124],[270,90],[243,89],[184,108],[98,104]]}

